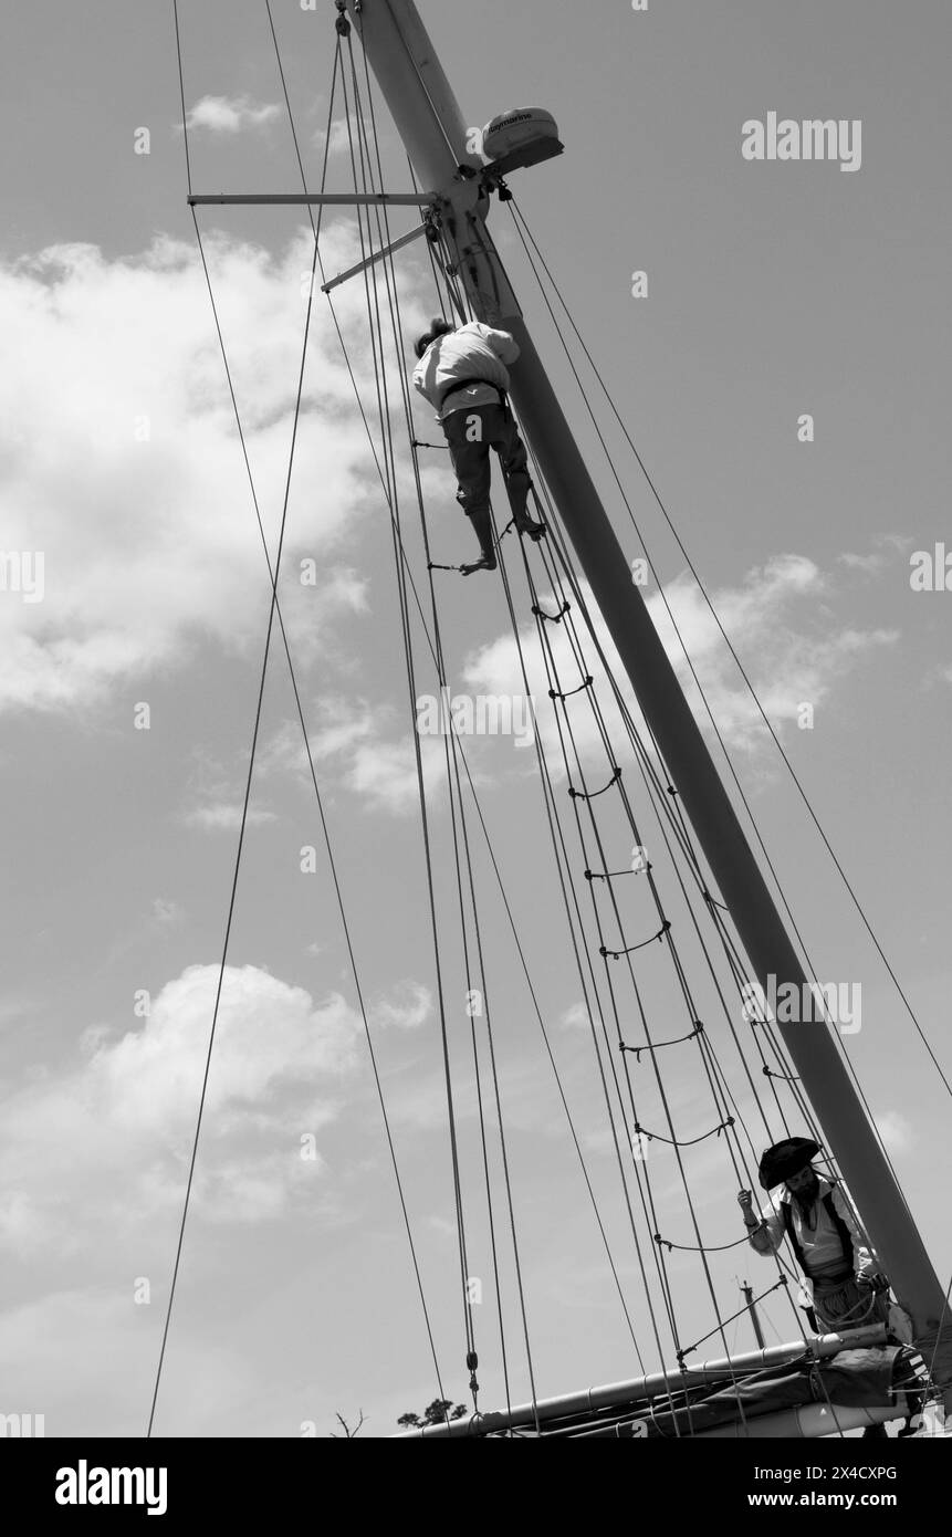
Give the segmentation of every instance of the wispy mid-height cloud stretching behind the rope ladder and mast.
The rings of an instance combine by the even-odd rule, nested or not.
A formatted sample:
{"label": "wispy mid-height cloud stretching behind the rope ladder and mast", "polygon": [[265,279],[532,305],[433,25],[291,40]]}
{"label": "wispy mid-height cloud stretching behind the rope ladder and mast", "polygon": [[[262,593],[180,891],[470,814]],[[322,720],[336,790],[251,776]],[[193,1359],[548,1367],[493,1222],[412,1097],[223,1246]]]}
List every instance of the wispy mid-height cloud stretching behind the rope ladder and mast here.
{"label": "wispy mid-height cloud stretching behind the rope ladder and mast", "polygon": [[[867,659],[877,649],[894,646],[898,639],[895,630],[858,629],[838,619],[837,604],[841,599],[843,581],[844,578],[834,579],[823,573],[804,556],[781,555],[763,567],[751,569],[737,586],[712,595],[721,622],[778,733],[798,721],[803,704],[811,704],[815,712],[829,705],[837,686],[852,667]],[[591,589],[584,583],[581,586],[598,642],[620,686],[627,712],[644,732],[607,627]],[[772,752],[772,742],[703,596],[687,576],[669,583],[666,592],[674,621],[660,595],[652,593],[647,607],[701,727],[712,735],[675,622],[724,741],[760,768],[766,762],[766,753]],[[555,612],[558,599],[554,593],[543,593],[541,604],[548,612]],[[549,626],[546,639],[555,659],[558,686],[564,690],[577,689],[578,662],[564,629]],[[521,627],[520,642],[529,673],[537,733],[551,772],[560,778],[564,776],[563,749],[554,709],[548,699],[551,679],[535,626]],[[586,667],[595,678],[595,692],[611,739],[615,750],[621,752],[626,739],[624,725],[604,669],[586,633],[581,633],[581,647]],[[524,699],[520,652],[511,633],[478,647],[461,667],[460,678],[460,687],[469,698],[489,696],[509,701],[512,710],[515,701]],[[460,690],[451,692],[455,696]],[[314,759],[334,768],[338,787],[358,795],[372,810],[395,815],[412,812],[418,798],[414,741],[412,736],[400,733],[398,715],[392,705],[375,705],[371,699],[355,695],[325,696],[312,712],[312,719]],[[607,773],[604,744],[584,701],[580,701],[572,712],[572,733],[584,775],[595,778],[601,775],[604,779]],[[508,749],[512,745],[528,750],[529,756],[523,756],[521,762],[518,755],[509,750],[500,756],[498,738],[478,735],[463,738],[477,785],[488,782],[489,770],[497,778],[514,770],[534,772],[535,753],[531,750],[531,741],[506,742]],[[444,739],[421,735],[420,749],[428,795],[437,795],[446,776]],[[278,768],[297,773],[306,770],[300,725],[295,721],[286,722],[263,752],[263,772]],[[578,779],[575,761],[571,761],[569,772]]]}

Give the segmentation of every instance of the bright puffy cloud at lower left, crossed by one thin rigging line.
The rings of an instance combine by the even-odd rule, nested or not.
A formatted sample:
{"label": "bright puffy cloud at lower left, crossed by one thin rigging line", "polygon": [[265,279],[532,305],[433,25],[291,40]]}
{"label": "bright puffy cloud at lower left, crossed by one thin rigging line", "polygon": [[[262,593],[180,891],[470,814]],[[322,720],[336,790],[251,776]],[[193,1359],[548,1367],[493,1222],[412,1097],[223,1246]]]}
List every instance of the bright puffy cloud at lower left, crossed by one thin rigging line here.
{"label": "bright puffy cloud at lower left, crossed by one thin rigging line", "polygon": [[[218,968],[192,965],[115,1039],[83,1033],[82,1062],[8,1094],[0,1245],[63,1253],[174,1213],[185,1191]],[[398,994],[400,996],[400,994]],[[314,1191],[317,1137],[338,1114],[360,1061],[360,1016],[257,967],[226,967],[208,1082],[195,1211],[258,1220]],[[95,1194],[94,1194],[95,1193]]]}

